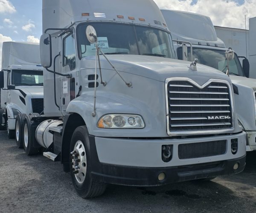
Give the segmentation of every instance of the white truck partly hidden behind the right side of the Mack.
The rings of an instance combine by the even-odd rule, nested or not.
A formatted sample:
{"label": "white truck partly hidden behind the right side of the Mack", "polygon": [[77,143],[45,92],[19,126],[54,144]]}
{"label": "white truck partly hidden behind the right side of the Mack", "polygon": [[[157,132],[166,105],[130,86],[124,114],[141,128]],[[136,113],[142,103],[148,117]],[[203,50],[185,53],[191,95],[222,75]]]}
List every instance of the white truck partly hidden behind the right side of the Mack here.
{"label": "white truck partly hidden behind the right side of the Mack", "polygon": [[[198,63],[227,72],[226,51],[231,49],[227,49],[224,42],[216,36],[209,17],[175,10],[161,11],[172,38],[186,41],[174,41],[178,59],[191,60],[192,45],[192,55],[193,58],[198,58]],[[188,57],[185,58],[185,55]],[[247,58],[243,58],[241,66],[235,53],[233,60],[228,63],[230,79],[235,89],[236,114],[239,125],[247,133],[247,151],[256,150],[256,80],[248,78],[250,65]]]}

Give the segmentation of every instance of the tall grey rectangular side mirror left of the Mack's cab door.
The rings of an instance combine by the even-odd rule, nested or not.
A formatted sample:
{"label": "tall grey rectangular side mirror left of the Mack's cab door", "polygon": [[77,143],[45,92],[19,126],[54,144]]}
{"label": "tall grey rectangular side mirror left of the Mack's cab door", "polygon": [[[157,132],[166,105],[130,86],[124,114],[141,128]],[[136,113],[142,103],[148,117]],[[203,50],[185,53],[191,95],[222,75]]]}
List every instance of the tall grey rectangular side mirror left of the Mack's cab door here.
{"label": "tall grey rectangular side mirror left of the Mack's cab door", "polygon": [[52,37],[47,33],[40,38],[40,58],[44,68],[52,66]]}

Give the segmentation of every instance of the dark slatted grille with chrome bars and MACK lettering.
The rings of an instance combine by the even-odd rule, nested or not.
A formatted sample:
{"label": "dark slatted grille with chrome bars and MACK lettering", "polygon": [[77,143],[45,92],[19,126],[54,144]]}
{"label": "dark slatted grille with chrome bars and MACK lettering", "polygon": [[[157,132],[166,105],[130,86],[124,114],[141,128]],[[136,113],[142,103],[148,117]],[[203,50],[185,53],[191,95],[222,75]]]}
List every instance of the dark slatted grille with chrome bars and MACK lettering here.
{"label": "dark slatted grille with chrome bars and MACK lettering", "polygon": [[230,88],[227,83],[216,81],[209,81],[204,86],[191,80],[167,82],[170,134],[232,129]]}

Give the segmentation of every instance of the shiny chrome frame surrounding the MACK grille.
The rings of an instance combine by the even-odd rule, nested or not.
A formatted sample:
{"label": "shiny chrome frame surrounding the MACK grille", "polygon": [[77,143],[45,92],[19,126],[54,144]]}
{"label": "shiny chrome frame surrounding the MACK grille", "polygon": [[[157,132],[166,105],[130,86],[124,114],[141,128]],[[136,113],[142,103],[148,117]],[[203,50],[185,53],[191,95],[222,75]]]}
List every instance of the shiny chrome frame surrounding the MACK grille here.
{"label": "shiny chrome frame surrounding the MACK grille", "polygon": [[[189,83],[192,83],[193,85],[197,86],[199,89],[203,89],[205,88],[206,86],[208,86],[210,83],[212,82],[215,82],[215,83],[225,83],[229,89],[229,95],[230,95],[230,103],[231,103],[231,109],[232,109],[232,127],[231,128],[227,128],[227,129],[221,129],[221,130],[195,130],[195,131],[173,131],[171,132],[170,131],[170,128],[169,128],[169,101],[168,101],[168,83],[170,81],[188,81]],[[207,81],[206,83],[204,83],[203,85],[199,85],[198,83],[196,83],[195,81],[193,81],[192,79],[190,78],[182,78],[182,77],[177,77],[177,78],[166,78],[166,81],[165,81],[165,92],[166,92],[166,129],[167,129],[167,134],[169,136],[179,136],[179,135],[206,135],[206,134],[222,134],[222,133],[231,133],[235,130],[235,127],[234,127],[234,102],[233,102],[233,92],[232,92],[232,87],[230,85],[230,83],[226,80],[221,80],[221,79],[210,79],[209,81]],[[197,100],[195,98],[184,98],[184,99],[181,99],[181,98],[176,98],[176,99],[173,99],[173,98],[170,98],[170,100]],[[201,98],[198,98],[198,100],[201,100]],[[206,100],[206,99],[203,99],[203,100]],[[212,100],[212,101],[229,101],[229,99],[218,99],[218,98],[215,98],[214,99],[209,99],[208,100]]]}

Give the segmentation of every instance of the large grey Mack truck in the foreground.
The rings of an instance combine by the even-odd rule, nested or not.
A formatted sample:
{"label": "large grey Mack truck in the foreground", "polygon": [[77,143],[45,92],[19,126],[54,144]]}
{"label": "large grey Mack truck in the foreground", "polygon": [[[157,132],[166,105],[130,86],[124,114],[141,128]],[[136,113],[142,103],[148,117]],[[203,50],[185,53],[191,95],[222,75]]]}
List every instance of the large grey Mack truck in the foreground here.
{"label": "large grey Mack truck in the foreground", "polygon": [[43,31],[44,116],[26,116],[25,150],[46,148],[80,196],[244,169],[230,78],[174,59],[153,0],[43,0]]}

